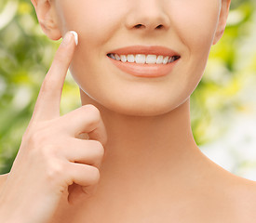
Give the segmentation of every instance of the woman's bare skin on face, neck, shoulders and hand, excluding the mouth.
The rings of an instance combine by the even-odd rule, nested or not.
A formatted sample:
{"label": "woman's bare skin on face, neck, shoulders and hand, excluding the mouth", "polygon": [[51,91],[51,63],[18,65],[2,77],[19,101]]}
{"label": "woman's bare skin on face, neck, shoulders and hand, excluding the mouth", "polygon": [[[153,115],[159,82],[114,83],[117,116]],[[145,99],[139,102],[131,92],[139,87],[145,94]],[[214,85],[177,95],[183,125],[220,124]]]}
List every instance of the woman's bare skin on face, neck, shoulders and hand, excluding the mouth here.
{"label": "woman's bare skin on face, neck, shoulders and hand, excluding the mouth", "polygon": [[[61,45],[47,73],[13,168],[2,177],[1,222],[255,220],[256,183],[211,162],[190,126],[189,98],[222,37],[229,0],[33,4],[50,39],[74,30],[79,45]],[[108,52],[138,44],[173,48],[182,59],[158,80],[109,63]],[[60,117],[69,66],[83,106]]]}

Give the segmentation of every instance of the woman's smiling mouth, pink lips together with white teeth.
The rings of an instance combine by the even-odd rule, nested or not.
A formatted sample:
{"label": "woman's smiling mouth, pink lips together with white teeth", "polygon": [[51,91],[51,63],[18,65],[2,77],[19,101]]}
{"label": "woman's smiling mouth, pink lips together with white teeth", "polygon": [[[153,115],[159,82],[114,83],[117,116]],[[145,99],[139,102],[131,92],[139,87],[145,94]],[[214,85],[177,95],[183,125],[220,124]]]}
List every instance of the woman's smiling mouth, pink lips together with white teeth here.
{"label": "woman's smiling mouth, pink lips together with white teeth", "polygon": [[107,53],[122,72],[136,77],[162,77],[171,73],[182,57],[166,46],[126,46]]}

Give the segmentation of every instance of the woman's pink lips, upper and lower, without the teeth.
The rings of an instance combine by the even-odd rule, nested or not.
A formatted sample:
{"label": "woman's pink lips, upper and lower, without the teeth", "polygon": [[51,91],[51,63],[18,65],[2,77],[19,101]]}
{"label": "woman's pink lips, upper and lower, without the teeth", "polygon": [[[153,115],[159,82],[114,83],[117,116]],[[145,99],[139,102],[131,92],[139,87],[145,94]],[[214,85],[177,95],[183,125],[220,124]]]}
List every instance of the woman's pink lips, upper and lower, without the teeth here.
{"label": "woman's pink lips, upper and lower, without the teeth", "polygon": [[[111,58],[110,55],[156,55],[164,57],[172,57],[172,61],[168,64],[139,64],[136,62],[123,62]],[[123,48],[115,49],[107,53],[108,59],[115,65],[115,67],[122,72],[132,74],[137,77],[161,77],[172,72],[175,65],[181,59],[179,55],[174,50],[165,46],[128,46]]]}

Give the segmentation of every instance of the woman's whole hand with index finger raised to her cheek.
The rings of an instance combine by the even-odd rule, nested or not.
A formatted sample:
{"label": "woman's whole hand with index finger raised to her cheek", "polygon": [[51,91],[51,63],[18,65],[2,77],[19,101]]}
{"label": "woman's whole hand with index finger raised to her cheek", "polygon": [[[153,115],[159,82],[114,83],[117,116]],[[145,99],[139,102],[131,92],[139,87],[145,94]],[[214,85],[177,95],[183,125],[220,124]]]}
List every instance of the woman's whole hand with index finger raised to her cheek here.
{"label": "woman's whole hand with index finger raised to her cheek", "polygon": [[[60,116],[61,91],[74,55],[67,33],[47,72],[32,120],[0,196],[1,222],[47,223],[63,195],[75,203],[100,179],[106,131],[93,105]],[[79,135],[88,134],[89,139]],[[4,205],[3,205],[4,204]]]}

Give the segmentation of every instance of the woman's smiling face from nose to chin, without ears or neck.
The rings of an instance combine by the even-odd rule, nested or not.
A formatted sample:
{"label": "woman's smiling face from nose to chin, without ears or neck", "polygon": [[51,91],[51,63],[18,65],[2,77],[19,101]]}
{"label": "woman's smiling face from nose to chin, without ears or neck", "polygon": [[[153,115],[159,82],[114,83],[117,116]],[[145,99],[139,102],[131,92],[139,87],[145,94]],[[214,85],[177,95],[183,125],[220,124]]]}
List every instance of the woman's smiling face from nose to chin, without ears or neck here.
{"label": "woman's smiling face from nose to chin, without ears or neck", "polygon": [[[53,4],[62,35],[71,30],[79,35],[71,72],[82,94],[115,112],[150,116],[177,108],[195,90],[206,67],[222,1],[55,0]],[[127,46],[135,48],[117,51]],[[138,46],[164,46],[174,52],[157,47],[144,51]],[[123,62],[108,57],[116,52],[142,54],[138,59],[162,55],[177,60],[150,65],[154,71],[171,67],[160,69],[162,76],[142,77],[149,65],[138,68],[126,62],[120,69],[115,64]],[[131,65],[137,75],[123,70]]]}

